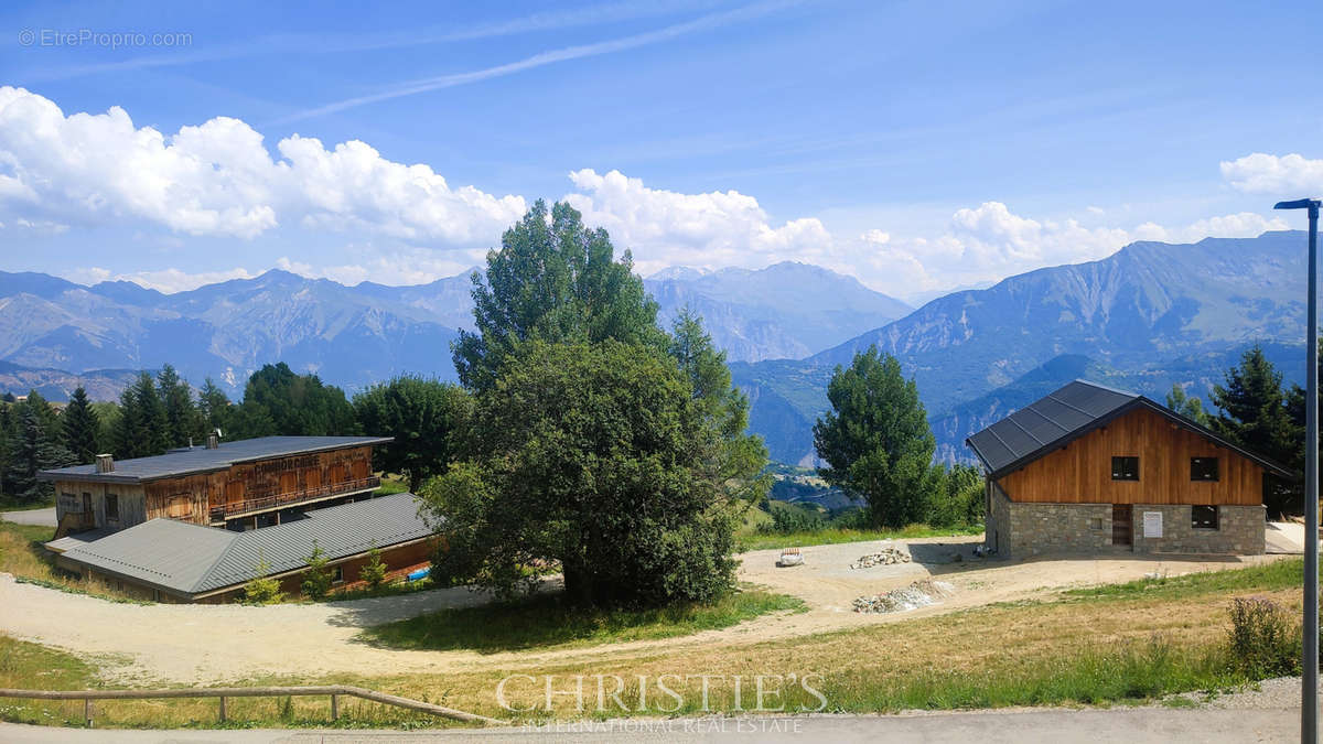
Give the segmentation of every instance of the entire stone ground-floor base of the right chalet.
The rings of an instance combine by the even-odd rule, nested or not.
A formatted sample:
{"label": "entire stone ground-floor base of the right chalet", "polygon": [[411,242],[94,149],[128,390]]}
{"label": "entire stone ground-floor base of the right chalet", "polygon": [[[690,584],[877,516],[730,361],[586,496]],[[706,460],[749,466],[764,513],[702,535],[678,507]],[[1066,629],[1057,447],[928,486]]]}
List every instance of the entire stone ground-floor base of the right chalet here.
{"label": "entire stone ground-floor base of the right chalet", "polygon": [[[1043,553],[1233,553],[1262,555],[1262,506],[1217,507],[1217,530],[1191,526],[1191,507],[1131,506],[1131,545],[1111,544],[1111,504],[1012,502],[988,485],[984,543],[999,557]],[[1144,512],[1162,514],[1162,537],[1144,535]]]}

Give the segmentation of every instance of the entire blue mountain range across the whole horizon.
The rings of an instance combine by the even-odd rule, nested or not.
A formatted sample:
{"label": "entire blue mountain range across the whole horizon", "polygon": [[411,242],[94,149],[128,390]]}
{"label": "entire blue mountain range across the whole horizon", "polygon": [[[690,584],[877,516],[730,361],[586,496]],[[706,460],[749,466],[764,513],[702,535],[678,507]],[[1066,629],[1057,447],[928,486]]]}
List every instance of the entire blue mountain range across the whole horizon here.
{"label": "entire blue mountain range across the whole horizon", "polygon": [[[1303,377],[1303,234],[1131,244],[1086,263],[951,293],[917,310],[857,279],[803,263],[672,267],[644,279],[663,323],[689,307],[726,351],[751,401],[750,429],[782,462],[810,462],[833,368],[869,346],[913,375],[938,458],[1076,377],[1162,400],[1207,396],[1252,343]],[[427,285],[344,286],[286,271],[161,294],[0,273],[0,389],[61,400],[85,384],[110,397],[131,369],[167,361],[239,393],[283,360],[352,392],[400,372],[454,379],[450,342],[470,328],[470,273]],[[105,372],[101,372],[105,371]]]}

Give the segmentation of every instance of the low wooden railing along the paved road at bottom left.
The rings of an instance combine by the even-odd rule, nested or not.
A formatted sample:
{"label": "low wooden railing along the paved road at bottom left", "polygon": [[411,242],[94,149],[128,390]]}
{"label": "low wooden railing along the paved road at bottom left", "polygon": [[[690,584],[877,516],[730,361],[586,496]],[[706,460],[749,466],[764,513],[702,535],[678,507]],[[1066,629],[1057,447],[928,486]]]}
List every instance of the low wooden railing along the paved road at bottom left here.
{"label": "low wooden railing along the paved road at bottom left", "polygon": [[455,708],[447,708],[445,706],[434,706],[431,703],[423,703],[422,700],[411,700],[409,698],[401,698],[398,695],[388,695],[385,692],[377,692],[374,690],[366,690],[364,687],[352,687],[348,684],[327,684],[321,687],[210,687],[210,688],[171,688],[171,690],[5,690],[0,688],[0,698],[21,698],[26,700],[82,700],[83,702],[83,719],[87,723],[87,728],[91,728],[91,702],[93,700],[151,700],[163,698],[220,698],[220,720],[225,723],[225,699],[226,698],[284,698],[284,696],[308,696],[308,695],[329,695],[331,696],[331,720],[337,720],[340,718],[340,695],[348,695],[351,698],[359,698],[363,700],[372,700],[373,703],[384,703],[386,706],[396,706],[397,708],[406,708],[410,711],[418,711],[423,714],[430,714],[434,716],[448,718],[452,720],[460,720],[464,723],[486,723],[504,725],[509,721],[497,720],[493,718],[480,716],[478,714],[468,714],[464,711],[456,711]]}

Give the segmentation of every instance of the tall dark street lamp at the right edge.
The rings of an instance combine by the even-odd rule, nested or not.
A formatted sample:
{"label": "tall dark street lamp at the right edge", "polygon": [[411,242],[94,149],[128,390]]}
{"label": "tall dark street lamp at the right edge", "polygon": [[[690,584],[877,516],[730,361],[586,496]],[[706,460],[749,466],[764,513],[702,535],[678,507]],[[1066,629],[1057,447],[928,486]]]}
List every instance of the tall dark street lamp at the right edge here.
{"label": "tall dark street lamp at the right edge", "polygon": [[1310,210],[1308,344],[1304,371],[1304,667],[1301,680],[1301,741],[1319,740],[1319,200],[1278,201],[1273,209]]}

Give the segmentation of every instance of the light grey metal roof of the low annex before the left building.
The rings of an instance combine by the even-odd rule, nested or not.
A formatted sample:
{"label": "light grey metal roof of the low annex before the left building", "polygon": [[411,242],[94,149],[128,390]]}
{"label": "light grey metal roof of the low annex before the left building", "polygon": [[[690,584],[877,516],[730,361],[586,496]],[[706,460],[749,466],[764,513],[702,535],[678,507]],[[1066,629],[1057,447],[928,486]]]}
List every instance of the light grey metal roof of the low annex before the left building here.
{"label": "light grey metal roof of the low annex before the left building", "polygon": [[413,494],[392,494],[307,512],[306,519],[232,532],[173,519],[152,519],[64,557],[180,594],[204,594],[243,584],[265,560],[269,575],[307,565],[312,540],[336,560],[426,537],[431,528]]}

